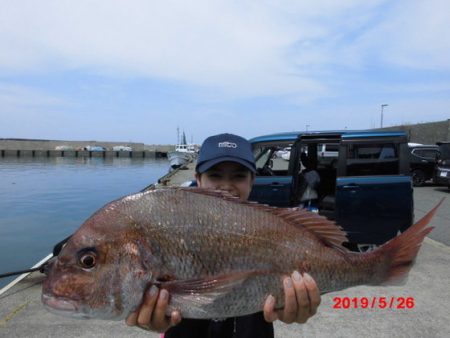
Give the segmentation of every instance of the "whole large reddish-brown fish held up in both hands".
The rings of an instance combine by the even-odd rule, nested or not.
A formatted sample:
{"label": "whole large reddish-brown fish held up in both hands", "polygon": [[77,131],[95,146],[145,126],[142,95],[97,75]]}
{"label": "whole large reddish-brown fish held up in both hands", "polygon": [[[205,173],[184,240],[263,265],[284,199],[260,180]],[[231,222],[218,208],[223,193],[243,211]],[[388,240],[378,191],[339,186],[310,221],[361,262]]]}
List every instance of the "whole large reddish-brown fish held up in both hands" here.
{"label": "whole large reddish-brown fish held up in both hands", "polygon": [[282,280],[294,270],[321,292],[390,283],[407,275],[436,208],[362,254],[341,245],[345,233],[333,222],[305,210],[198,188],[150,190],[111,202],[77,230],[49,266],[42,300],[59,313],[121,319],[155,284],[171,295],[168,313],[224,318],[261,311],[269,294],[281,308]]}

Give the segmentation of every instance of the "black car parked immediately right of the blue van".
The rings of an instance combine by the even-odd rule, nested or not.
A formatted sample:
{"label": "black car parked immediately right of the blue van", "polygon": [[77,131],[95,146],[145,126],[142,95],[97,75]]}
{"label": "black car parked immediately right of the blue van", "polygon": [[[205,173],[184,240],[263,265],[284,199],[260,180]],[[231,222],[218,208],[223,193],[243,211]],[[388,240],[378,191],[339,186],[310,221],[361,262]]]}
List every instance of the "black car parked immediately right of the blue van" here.
{"label": "black car parked immediately right of the blue van", "polygon": [[408,147],[413,184],[415,187],[423,186],[426,181],[433,179],[435,175],[439,147],[415,143],[409,143]]}

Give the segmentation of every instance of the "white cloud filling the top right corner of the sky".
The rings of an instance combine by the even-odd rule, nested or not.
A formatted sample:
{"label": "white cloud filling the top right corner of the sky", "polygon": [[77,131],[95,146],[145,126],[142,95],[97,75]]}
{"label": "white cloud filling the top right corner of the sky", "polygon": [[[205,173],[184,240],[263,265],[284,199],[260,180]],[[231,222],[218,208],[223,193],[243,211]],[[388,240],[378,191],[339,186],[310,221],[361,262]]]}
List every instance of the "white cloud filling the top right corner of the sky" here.
{"label": "white cloud filling the top right corner of the sky", "polygon": [[417,70],[450,70],[450,2],[399,1],[351,49],[369,62]]}

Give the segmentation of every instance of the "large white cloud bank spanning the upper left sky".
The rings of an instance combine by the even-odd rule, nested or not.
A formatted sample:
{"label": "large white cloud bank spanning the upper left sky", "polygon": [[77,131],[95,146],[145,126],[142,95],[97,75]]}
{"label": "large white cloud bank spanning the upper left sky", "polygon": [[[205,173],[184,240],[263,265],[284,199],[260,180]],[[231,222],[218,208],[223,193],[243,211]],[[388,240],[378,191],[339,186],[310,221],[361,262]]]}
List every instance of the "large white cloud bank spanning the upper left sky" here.
{"label": "large white cloud bank spanning the upper left sky", "polygon": [[334,63],[336,31],[378,2],[8,3],[0,14],[0,69],[87,68],[234,95],[320,95],[324,85],[308,67],[320,74]]}

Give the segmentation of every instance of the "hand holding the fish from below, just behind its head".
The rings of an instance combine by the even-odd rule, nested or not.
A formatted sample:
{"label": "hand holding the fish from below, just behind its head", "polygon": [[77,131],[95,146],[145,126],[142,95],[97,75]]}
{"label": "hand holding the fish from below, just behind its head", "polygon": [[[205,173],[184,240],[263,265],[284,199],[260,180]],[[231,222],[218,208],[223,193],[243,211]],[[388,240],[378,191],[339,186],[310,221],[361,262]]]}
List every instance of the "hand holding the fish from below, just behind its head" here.
{"label": "hand holding the fish from below, just behind its head", "polygon": [[168,304],[169,292],[152,285],[145,292],[142,304],[128,316],[126,323],[144,330],[164,332],[181,321],[178,311],[172,312],[170,317],[166,316]]}

